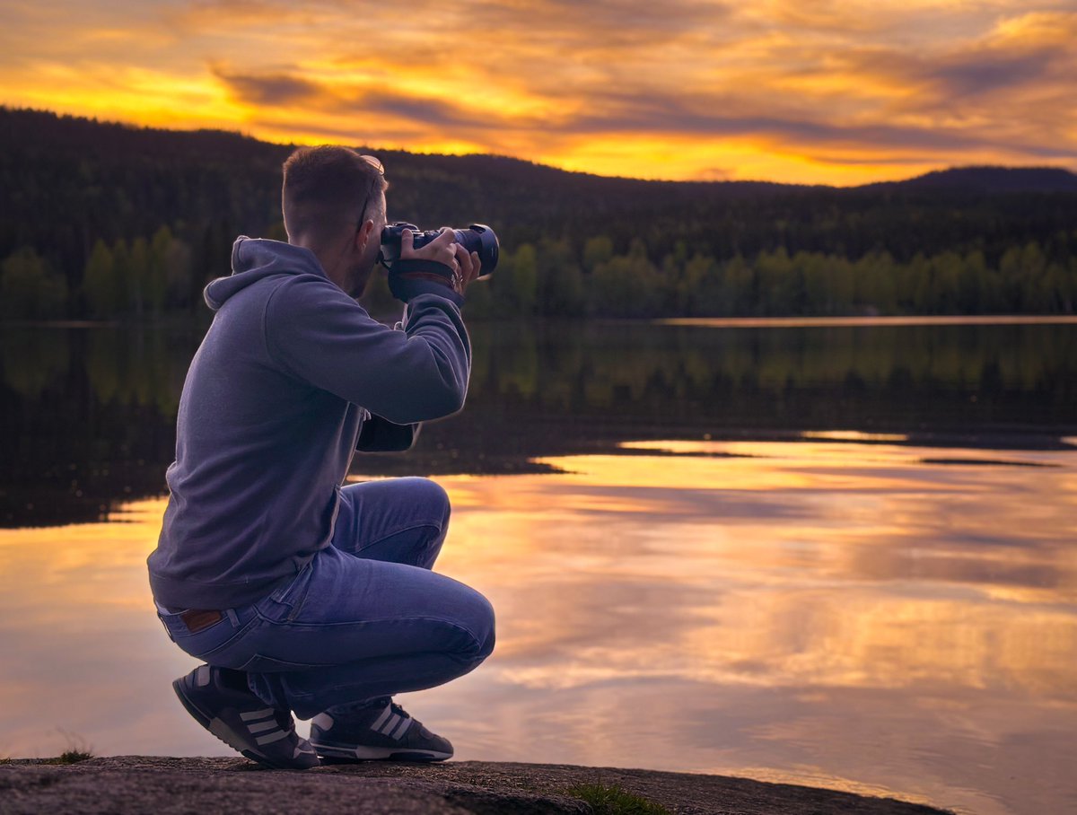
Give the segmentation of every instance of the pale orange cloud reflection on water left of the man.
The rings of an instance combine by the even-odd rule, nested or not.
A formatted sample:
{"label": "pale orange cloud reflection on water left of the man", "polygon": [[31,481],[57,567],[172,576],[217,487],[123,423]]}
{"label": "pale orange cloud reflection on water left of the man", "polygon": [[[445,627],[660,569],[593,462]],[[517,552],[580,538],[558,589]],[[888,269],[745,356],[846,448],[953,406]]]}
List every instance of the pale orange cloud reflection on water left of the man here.
{"label": "pale orange cloud reflection on water left of the man", "polygon": [[168,698],[193,661],[165,636],[145,574],[164,507],[0,530],[0,755],[57,755],[58,729],[104,755],[205,754]]}

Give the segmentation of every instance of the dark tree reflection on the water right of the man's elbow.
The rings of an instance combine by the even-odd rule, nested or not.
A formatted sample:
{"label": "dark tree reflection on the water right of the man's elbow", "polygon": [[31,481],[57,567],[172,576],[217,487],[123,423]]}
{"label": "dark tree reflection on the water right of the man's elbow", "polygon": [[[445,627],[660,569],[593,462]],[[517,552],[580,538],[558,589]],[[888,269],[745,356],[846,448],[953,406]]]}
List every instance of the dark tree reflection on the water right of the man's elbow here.
{"label": "dark tree reflection on the water right of the man's elbow", "polygon": [[1071,423],[1077,416],[1077,329],[1065,325],[496,324],[473,334],[473,405],[508,399],[605,412],[611,422],[675,414],[752,427],[754,417],[789,428],[811,428],[824,416],[837,424],[957,414]]}

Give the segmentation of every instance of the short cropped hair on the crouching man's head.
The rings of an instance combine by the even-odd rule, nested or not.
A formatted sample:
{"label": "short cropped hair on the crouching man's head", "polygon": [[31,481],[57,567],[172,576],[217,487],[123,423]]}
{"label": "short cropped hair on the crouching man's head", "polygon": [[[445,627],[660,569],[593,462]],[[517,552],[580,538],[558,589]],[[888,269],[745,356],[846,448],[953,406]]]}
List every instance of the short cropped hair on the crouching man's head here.
{"label": "short cropped hair on the crouching man's head", "polygon": [[349,219],[359,221],[367,193],[373,203],[376,194],[389,186],[359,153],[335,144],[295,150],[284,161],[283,171],[281,212],[289,239],[297,235],[316,240],[332,237]]}

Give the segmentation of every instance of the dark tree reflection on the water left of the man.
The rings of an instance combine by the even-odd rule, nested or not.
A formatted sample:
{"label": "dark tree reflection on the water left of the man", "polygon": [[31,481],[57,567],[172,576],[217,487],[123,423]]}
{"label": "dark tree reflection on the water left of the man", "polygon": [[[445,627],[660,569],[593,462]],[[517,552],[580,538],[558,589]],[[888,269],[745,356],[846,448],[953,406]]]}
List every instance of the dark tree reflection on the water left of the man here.
{"label": "dark tree reflection on the water left of the man", "polygon": [[185,326],[4,331],[0,525],[94,520],[116,501],[159,494],[198,336]]}

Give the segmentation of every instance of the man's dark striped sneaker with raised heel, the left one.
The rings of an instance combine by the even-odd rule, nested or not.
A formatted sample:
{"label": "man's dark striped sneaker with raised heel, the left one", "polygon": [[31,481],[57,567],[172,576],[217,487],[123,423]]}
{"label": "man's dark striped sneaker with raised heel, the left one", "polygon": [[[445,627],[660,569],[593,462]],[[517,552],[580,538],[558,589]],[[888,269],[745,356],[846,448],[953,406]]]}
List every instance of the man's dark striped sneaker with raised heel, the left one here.
{"label": "man's dark striped sneaker with raised heel, the left one", "polygon": [[266,706],[246,686],[239,672],[211,665],[199,665],[172,683],[199,725],[252,761],[274,770],[318,767],[313,747],[295,734],[292,714]]}

